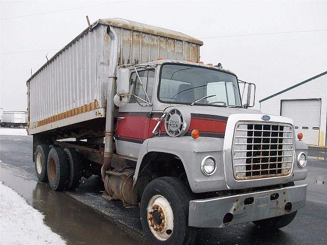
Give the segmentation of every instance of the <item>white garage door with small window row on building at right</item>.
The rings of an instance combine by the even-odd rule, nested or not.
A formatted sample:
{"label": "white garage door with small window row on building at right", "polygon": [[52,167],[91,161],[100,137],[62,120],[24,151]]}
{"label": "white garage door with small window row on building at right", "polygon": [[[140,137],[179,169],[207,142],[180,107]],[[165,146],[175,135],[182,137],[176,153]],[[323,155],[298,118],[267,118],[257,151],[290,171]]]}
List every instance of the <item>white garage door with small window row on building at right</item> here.
{"label": "white garage door with small window row on building at right", "polygon": [[304,142],[316,144],[320,130],[321,100],[283,100],[281,103],[282,116],[294,120],[296,135],[302,132]]}

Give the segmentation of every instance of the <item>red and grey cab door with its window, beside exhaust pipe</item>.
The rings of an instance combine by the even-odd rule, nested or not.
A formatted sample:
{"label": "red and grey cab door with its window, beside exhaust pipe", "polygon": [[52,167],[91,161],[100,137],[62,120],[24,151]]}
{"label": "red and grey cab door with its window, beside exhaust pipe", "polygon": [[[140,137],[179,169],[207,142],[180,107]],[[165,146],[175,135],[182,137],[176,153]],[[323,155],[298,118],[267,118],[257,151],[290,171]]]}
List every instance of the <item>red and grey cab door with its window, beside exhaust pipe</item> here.
{"label": "red and grey cab door with its window, beside exhaust pipe", "polygon": [[[137,72],[152,103],[155,69],[138,69]],[[130,75],[129,91],[130,94],[135,94],[147,101],[146,93],[139,82],[136,72],[133,70]],[[116,151],[120,155],[137,158],[142,143],[150,137],[149,127],[152,119],[152,106],[133,96],[129,96],[128,99],[127,105],[119,108],[115,134]]]}

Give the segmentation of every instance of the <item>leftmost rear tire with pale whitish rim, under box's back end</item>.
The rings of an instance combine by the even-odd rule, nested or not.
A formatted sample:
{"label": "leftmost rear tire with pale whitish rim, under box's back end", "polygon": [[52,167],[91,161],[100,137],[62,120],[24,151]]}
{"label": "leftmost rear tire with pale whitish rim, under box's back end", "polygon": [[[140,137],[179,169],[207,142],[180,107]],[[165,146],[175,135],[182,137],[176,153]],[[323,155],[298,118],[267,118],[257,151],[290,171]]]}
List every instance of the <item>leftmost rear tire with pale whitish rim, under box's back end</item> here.
{"label": "leftmost rear tire with pale whitish rim, under box's back end", "polygon": [[39,144],[35,151],[35,173],[39,181],[48,181],[48,173],[46,165],[48,162],[49,146],[46,144]]}

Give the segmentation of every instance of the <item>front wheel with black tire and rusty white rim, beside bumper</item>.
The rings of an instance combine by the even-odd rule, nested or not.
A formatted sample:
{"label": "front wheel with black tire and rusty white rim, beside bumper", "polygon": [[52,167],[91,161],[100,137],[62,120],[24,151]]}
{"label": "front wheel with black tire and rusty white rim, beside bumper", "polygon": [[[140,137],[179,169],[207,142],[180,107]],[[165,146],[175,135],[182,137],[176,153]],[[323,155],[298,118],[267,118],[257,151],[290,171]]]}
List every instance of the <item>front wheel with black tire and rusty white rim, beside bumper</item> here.
{"label": "front wheel with black tire and rusty white rim, beside bumper", "polygon": [[196,228],[189,227],[191,192],[177,178],[161,177],[145,188],[141,223],[150,244],[193,244]]}

